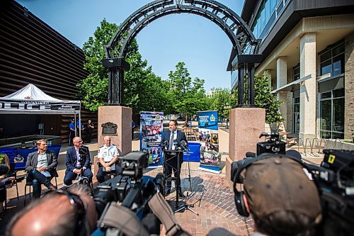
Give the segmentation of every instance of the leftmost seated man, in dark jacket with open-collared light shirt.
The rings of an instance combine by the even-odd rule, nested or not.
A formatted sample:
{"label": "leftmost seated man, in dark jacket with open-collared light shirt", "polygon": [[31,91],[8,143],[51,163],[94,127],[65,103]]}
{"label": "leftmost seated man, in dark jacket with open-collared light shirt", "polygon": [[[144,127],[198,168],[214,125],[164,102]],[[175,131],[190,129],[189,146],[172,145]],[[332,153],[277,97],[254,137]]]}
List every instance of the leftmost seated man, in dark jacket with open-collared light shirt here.
{"label": "leftmost seated man, in dark jacket with open-collared light shirt", "polygon": [[53,176],[57,176],[58,164],[57,156],[47,151],[47,140],[38,140],[37,147],[38,151],[28,154],[25,163],[25,171],[28,172],[27,181],[33,183],[33,198],[40,197],[41,184],[44,184],[48,189],[56,189],[50,180]]}

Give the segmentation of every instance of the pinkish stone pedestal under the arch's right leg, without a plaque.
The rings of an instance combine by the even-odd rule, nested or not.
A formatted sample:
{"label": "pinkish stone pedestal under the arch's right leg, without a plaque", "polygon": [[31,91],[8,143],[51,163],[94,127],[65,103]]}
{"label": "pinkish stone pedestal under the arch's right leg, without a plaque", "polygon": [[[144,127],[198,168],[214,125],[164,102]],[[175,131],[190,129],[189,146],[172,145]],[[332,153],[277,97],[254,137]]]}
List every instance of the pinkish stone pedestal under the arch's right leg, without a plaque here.
{"label": "pinkish stone pedestal under the arch's right leg, without a plaque", "polygon": [[235,108],[230,111],[229,157],[226,159],[226,179],[230,187],[231,163],[244,159],[246,152],[256,152],[257,142],[264,141],[265,109]]}

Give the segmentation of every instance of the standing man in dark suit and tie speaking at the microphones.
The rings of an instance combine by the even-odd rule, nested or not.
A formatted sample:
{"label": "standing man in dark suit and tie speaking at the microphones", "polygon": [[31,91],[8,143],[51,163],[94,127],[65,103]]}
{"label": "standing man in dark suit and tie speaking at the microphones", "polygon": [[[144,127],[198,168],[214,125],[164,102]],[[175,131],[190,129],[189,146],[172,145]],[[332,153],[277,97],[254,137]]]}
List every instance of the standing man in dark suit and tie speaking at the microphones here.
{"label": "standing man in dark suit and tie speaking at the microphones", "polygon": [[[169,122],[169,130],[164,131],[160,143],[160,147],[163,150],[181,150],[181,141],[184,140],[187,143],[187,139],[185,138],[185,134],[179,130],[177,130],[177,120],[170,120]],[[179,157],[179,163],[178,163]],[[183,162],[183,152],[165,152],[164,159],[167,160],[165,165],[165,176],[168,178],[172,174],[172,170],[174,176],[176,177],[176,188],[178,188],[178,196],[181,198],[184,197],[182,189],[181,189],[181,164]],[[169,195],[171,192],[171,181],[166,181],[164,194],[165,196]]]}

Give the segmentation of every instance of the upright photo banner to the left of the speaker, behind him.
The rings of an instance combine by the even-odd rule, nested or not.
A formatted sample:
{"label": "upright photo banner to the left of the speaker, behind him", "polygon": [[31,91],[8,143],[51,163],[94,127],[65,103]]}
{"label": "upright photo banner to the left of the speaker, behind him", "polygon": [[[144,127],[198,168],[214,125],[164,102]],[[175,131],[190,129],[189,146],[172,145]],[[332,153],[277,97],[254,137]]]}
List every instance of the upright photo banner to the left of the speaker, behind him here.
{"label": "upright photo banner to the left of the speaker, behind him", "polygon": [[164,122],[163,112],[142,111],[140,113],[140,150],[149,152],[149,167],[162,167],[160,142]]}

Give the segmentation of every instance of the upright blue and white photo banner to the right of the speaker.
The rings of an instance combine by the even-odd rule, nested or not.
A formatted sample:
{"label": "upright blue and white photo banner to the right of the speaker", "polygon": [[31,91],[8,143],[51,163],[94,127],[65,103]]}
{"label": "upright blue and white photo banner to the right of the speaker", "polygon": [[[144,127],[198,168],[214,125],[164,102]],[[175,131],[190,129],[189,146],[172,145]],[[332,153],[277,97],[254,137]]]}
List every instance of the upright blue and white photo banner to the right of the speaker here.
{"label": "upright blue and white photo banner to the right of the speaker", "polygon": [[198,111],[198,140],[200,141],[200,170],[220,174],[219,132],[217,111]]}

